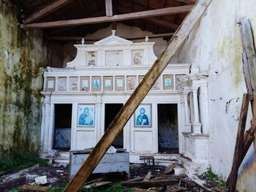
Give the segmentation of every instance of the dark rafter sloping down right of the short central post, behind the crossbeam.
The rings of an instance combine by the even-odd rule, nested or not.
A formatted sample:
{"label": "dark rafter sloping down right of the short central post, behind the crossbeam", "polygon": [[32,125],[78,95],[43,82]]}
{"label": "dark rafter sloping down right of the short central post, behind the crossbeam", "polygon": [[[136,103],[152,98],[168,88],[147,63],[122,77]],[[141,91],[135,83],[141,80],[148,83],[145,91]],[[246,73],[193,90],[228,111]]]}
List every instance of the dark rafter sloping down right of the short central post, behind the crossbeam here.
{"label": "dark rafter sloping down right of the short central post, behind the crossbeam", "polygon": [[[133,10],[133,9],[130,9],[128,7],[122,7],[122,6],[119,6],[119,5],[116,6],[116,9],[118,10],[118,12],[121,12],[121,13],[135,12],[135,10]],[[157,26],[162,26],[163,28],[170,28],[174,31],[176,31],[176,29],[179,26],[176,23],[170,23],[167,20],[162,20],[162,19],[159,19],[159,18],[142,18],[142,19],[149,22],[149,23],[154,23]]]}

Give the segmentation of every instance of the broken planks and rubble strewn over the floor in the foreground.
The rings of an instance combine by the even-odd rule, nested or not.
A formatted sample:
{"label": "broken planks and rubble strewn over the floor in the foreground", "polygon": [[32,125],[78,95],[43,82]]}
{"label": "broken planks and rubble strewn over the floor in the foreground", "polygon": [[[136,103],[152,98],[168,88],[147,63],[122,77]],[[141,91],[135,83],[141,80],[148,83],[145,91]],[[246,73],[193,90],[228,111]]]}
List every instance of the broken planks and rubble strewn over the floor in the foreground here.
{"label": "broken planks and rubble strewn over the floor in the foreground", "polygon": [[[125,172],[92,174],[83,185],[82,191],[211,191],[208,189],[211,186],[206,188],[190,180],[183,174],[183,169],[181,164],[170,164],[168,167],[130,164],[129,175]],[[2,176],[0,191],[12,188],[18,188],[18,191],[62,191],[69,180],[68,172],[67,164],[32,166],[18,173]],[[37,182],[43,184],[37,185]],[[4,186],[3,183],[9,184]],[[222,191],[219,188],[214,189]]]}

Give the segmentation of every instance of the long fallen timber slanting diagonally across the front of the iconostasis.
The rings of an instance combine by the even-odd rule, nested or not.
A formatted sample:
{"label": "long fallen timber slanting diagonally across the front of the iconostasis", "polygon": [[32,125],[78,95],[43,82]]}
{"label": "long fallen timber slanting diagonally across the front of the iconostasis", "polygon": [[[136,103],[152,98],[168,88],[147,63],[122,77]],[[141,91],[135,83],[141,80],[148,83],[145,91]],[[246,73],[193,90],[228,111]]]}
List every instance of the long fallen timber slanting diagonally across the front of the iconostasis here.
{"label": "long fallen timber slanting diagonally across the front of the iconostasis", "polygon": [[178,48],[183,44],[185,39],[187,39],[189,32],[195,26],[197,20],[200,19],[201,15],[203,15],[203,12],[205,12],[206,7],[208,7],[210,3],[211,0],[197,1],[195,7],[191,12],[189,12],[181,26],[173,35],[172,39],[170,39],[170,42],[167,43],[162,55],[160,55],[157,61],[154,62],[151,69],[146,73],[134,93],[132,93],[132,96],[130,96],[127,103],[124,104],[124,107],[122,107],[120,112],[118,112],[116,118],[110,124],[107,131],[105,131],[105,134],[94,147],[94,150],[92,150],[91,154],[80,167],[77,174],[75,174],[75,177],[70,180],[64,191],[78,191],[83,183],[86,182],[91,172],[93,172],[110,145],[121,132],[122,128],[124,128],[129,118],[131,118],[141,101],[143,101],[148,91],[151,90],[154,82],[156,82],[160,74],[162,74],[170,59],[173,58],[173,55],[175,55]]}

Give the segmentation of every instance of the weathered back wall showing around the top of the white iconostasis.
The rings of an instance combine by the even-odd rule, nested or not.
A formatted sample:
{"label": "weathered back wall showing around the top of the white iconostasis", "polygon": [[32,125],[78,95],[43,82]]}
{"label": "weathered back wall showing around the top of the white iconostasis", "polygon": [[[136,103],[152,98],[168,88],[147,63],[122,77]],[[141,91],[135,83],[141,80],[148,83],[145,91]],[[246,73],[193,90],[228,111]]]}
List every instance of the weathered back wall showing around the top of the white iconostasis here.
{"label": "weathered back wall showing around the top of the white iconostasis", "polygon": [[[138,27],[130,27],[126,26],[122,23],[117,23],[116,26],[116,35],[118,37],[132,37],[132,36],[139,36],[139,35],[150,35],[152,34],[149,31],[141,31]],[[111,26],[108,28],[102,28],[99,31],[96,31],[94,34],[89,34],[86,37],[107,37],[111,35]],[[137,39],[132,40],[132,42],[144,42],[144,39]],[[154,38],[149,39],[148,42],[155,42],[154,44],[154,53],[157,57],[162,53],[165,49],[165,45],[167,41],[162,38]],[[81,42],[78,42],[80,44]],[[92,44],[94,42],[86,42],[86,44]],[[64,66],[66,66],[67,62],[72,61],[75,58],[77,53],[76,48],[72,43],[67,43],[64,45]]]}

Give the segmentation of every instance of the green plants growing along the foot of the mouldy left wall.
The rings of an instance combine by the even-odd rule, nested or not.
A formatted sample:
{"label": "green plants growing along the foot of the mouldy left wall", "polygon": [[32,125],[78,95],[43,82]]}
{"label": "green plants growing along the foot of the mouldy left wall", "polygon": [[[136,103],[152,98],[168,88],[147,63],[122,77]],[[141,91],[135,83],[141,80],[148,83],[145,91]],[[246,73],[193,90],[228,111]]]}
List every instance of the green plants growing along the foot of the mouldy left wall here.
{"label": "green plants growing along the foot of the mouldy left wall", "polygon": [[0,171],[14,172],[34,164],[48,166],[48,161],[39,158],[37,155],[13,153],[10,158],[0,158]]}

